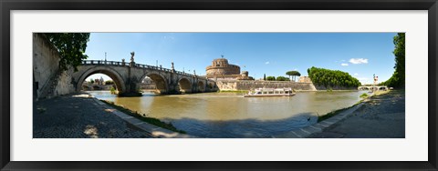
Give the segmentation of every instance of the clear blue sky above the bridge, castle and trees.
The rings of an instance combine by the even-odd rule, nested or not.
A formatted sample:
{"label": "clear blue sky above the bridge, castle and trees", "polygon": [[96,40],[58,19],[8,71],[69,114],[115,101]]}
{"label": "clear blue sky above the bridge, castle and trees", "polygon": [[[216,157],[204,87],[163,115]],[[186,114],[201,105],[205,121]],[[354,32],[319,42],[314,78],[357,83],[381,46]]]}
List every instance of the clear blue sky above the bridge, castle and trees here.
{"label": "clear blue sky above the bridge, castle and trees", "polygon": [[[205,75],[205,67],[224,55],[241,71],[263,78],[297,70],[308,75],[311,66],[348,72],[362,84],[391,77],[396,33],[91,33],[86,54],[89,59],[130,60],[162,65]],[[90,77],[106,75],[91,75]]]}

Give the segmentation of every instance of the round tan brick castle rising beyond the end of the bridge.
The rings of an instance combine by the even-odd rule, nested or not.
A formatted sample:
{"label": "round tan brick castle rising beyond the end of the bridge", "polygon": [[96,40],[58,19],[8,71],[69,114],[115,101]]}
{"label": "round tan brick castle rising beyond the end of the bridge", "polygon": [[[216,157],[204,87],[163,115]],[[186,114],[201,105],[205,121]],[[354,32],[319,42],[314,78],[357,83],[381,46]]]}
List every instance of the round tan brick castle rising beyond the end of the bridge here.
{"label": "round tan brick castle rising beyond the end of the bridge", "polygon": [[206,77],[215,80],[254,80],[247,71],[240,73],[240,66],[231,65],[224,58],[214,59],[212,65],[205,68]]}

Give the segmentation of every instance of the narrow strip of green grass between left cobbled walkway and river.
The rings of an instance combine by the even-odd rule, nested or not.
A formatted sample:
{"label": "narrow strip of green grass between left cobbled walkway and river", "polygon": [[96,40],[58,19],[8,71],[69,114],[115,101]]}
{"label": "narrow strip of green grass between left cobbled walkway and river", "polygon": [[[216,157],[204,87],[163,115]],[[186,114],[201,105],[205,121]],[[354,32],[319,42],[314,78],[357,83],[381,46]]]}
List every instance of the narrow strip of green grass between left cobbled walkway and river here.
{"label": "narrow strip of green grass between left cobbled walkway and river", "polygon": [[165,122],[162,122],[160,119],[157,119],[154,117],[148,117],[148,116],[145,116],[144,114],[142,114],[142,116],[141,116],[141,114],[139,114],[137,111],[132,111],[128,108],[125,108],[124,106],[118,106],[118,105],[114,104],[114,102],[110,102],[107,100],[100,100],[100,101],[102,101],[103,103],[105,103],[109,106],[116,108],[117,110],[125,113],[126,115],[133,116],[133,117],[138,118],[141,121],[147,122],[151,125],[160,126],[162,128],[169,129],[173,132],[186,134],[185,131],[177,129],[175,126],[172,125],[172,123],[165,123]]}

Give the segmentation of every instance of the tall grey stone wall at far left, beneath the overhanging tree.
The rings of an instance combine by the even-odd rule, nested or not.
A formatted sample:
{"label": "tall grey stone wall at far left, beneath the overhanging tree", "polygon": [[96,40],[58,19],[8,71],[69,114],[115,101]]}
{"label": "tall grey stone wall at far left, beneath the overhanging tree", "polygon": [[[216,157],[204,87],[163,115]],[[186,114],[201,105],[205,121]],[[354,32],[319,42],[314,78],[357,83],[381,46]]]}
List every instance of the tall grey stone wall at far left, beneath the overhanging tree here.
{"label": "tall grey stone wall at far left, beneath the overhanging tree", "polygon": [[[33,34],[33,75],[36,98],[47,97],[47,88],[55,85],[51,96],[66,95],[75,92],[71,84],[73,69],[60,73],[57,77],[59,54],[53,45],[38,34]],[[57,77],[57,78],[55,78]],[[57,82],[57,83],[56,83]]]}

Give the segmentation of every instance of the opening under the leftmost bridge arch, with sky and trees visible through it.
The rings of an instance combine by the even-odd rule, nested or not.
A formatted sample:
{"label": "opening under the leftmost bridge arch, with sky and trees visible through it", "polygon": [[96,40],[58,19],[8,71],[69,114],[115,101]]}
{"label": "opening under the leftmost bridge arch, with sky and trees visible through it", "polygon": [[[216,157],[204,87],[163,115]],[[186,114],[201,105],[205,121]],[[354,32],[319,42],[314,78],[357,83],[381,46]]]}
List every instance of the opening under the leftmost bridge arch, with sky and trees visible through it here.
{"label": "opening under the leftmost bridge arch, with sky and trees visible through it", "polygon": [[118,94],[119,89],[109,75],[100,73],[88,75],[82,82],[81,91],[110,91],[110,94]]}

